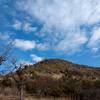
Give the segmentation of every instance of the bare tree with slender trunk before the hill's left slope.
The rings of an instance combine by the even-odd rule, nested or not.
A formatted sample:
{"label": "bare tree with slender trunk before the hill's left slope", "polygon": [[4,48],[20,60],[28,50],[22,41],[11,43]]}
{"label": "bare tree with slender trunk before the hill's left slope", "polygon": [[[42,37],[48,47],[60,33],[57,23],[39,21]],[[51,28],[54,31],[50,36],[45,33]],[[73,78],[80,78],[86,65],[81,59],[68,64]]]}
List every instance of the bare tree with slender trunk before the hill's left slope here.
{"label": "bare tree with slender trunk before the hill's left slope", "polygon": [[14,80],[16,88],[18,90],[19,100],[23,100],[23,87],[26,81],[26,77],[24,75],[25,66],[24,64],[18,64],[15,59],[12,60],[12,70],[10,71],[10,77]]}

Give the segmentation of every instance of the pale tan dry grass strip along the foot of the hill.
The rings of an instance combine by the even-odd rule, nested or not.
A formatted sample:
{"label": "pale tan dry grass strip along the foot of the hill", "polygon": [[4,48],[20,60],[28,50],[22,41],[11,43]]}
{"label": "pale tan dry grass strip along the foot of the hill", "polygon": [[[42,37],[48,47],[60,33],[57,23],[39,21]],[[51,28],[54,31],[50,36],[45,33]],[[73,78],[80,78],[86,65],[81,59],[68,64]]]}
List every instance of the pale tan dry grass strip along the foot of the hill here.
{"label": "pale tan dry grass strip along the foot of the hill", "polygon": [[[26,93],[24,93],[26,94]],[[0,100],[19,100],[16,89],[14,88],[0,88]],[[28,94],[23,96],[23,100],[71,100],[69,98],[53,98],[53,97],[34,97]]]}

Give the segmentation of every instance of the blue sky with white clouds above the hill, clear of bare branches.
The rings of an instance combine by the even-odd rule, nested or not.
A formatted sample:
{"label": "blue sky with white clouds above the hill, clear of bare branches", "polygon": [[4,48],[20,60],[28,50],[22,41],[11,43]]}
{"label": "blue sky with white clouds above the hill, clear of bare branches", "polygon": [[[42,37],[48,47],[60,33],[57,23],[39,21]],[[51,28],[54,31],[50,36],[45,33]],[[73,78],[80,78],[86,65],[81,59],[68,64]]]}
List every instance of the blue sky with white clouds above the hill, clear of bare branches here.
{"label": "blue sky with white clouds above the hill, clear of bare branches", "polygon": [[0,43],[25,63],[64,59],[100,66],[100,0],[0,0]]}

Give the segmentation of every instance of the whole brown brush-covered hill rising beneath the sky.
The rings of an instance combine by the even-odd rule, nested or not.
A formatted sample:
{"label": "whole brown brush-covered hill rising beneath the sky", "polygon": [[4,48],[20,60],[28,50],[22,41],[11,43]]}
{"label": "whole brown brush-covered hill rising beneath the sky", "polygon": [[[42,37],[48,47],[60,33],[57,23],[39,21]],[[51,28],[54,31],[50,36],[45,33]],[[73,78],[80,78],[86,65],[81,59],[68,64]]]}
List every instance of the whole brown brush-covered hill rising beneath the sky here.
{"label": "whole brown brush-covered hill rising beneath the sky", "polygon": [[23,69],[2,77],[0,82],[3,88],[20,87],[25,95],[100,100],[100,69],[65,60],[49,59],[25,65]]}

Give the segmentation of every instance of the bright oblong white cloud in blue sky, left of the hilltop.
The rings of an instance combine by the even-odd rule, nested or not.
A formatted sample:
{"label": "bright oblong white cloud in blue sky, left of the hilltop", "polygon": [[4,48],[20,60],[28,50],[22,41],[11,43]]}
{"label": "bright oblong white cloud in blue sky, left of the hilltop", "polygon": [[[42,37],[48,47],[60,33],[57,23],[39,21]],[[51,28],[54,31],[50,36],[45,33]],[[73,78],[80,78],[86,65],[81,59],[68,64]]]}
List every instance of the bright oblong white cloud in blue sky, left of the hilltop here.
{"label": "bright oblong white cloud in blue sky, left of the hilltop", "polygon": [[35,42],[30,40],[15,39],[14,45],[21,50],[32,50],[35,48]]}

